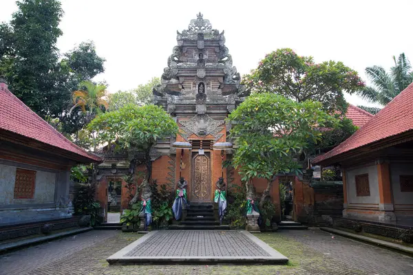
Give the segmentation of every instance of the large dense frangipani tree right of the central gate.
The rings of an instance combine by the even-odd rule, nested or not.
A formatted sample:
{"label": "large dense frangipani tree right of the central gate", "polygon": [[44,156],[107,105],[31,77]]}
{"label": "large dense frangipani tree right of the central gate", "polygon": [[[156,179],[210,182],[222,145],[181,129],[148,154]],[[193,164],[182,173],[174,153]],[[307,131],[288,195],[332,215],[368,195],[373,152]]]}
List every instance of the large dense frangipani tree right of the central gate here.
{"label": "large dense frangipani tree right of the central gate", "polygon": [[269,196],[278,173],[300,173],[297,155],[308,140],[321,137],[326,122],[339,120],[323,111],[320,102],[296,102],[273,93],[252,94],[229,115],[237,149],[233,166],[248,184],[254,177],[268,181],[260,203]]}

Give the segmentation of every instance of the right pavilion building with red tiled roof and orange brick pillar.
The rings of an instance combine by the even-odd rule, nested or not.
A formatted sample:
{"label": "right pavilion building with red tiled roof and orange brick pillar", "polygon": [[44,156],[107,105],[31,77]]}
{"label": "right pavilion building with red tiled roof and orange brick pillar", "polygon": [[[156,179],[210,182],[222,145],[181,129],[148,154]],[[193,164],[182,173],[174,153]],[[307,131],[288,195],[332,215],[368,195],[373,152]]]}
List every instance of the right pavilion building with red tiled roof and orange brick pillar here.
{"label": "right pavilion building with red tiled roof and orange brick pillar", "polygon": [[[341,226],[351,227],[354,221],[412,226],[413,84],[313,164],[341,166],[346,218],[340,220]],[[383,231],[372,225],[365,230]],[[394,233],[394,237],[398,235]]]}

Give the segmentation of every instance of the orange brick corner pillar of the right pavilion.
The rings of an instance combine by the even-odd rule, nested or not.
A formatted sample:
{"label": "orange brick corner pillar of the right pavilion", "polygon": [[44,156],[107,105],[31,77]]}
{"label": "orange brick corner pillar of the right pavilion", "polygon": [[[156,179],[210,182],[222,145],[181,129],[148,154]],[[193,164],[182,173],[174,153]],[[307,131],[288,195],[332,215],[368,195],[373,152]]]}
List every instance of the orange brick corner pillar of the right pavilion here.
{"label": "orange brick corner pillar of the right pavilion", "polygon": [[379,209],[383,212],[379,221],[396,221],[392,199],[392,185],[390,184],[390,165],[385,160],[379,159],[377,165],[377,181],[379,184]]}

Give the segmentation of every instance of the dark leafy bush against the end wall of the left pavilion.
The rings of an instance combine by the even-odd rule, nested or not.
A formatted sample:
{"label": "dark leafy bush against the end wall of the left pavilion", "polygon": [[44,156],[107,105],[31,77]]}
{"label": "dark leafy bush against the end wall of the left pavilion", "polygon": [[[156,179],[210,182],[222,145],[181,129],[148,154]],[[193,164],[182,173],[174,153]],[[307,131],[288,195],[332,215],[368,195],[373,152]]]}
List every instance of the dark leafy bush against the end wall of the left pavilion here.
{"label": "dark leafy bush against the end wall of the left pavilion", "polygon": [[95,200],[96,186],[93,184],[78,184],[74,196],[75,214],[90,215],[90,224],[95,225],[98,220],[100,204]]}

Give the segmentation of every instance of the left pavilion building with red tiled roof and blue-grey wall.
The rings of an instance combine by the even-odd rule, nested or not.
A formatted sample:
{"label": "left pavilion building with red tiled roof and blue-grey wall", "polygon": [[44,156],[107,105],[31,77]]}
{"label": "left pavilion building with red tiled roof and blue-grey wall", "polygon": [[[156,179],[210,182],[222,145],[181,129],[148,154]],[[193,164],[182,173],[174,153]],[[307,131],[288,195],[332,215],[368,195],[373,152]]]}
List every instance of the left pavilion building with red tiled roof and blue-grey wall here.
{"label": "left pavilion building with red tiled roof and blue-grey wall", "polygon": [[0,241],[77,225],[70,168],[100,162],[14,96],[0,78]]}

